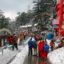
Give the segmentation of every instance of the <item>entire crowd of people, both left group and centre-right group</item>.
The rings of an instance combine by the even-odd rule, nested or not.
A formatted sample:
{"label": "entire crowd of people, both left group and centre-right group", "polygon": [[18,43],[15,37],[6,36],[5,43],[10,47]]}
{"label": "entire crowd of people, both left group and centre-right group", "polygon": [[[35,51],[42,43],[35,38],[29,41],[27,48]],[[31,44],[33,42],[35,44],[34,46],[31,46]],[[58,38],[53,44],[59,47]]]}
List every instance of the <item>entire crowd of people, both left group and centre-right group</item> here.
{"label": "entire crowd of people, both left group and centre-right group", "polygon": [[[50,32],[49,32],[50,33]],[[29,34],[28,34],[29,35]],[[50,36],[52,34],[34,34],[31,33],[30,40],[28,41],[29,54],[28,55],[36,55],[41,60],[45,61],[47,59],[47,55],[49,52],[64,47],[64,36],[60,38],[59,36]],[[0,36],[0,46],[12,45],[12,50],[16,48],[18,50],[18,37],[16,34]]]}

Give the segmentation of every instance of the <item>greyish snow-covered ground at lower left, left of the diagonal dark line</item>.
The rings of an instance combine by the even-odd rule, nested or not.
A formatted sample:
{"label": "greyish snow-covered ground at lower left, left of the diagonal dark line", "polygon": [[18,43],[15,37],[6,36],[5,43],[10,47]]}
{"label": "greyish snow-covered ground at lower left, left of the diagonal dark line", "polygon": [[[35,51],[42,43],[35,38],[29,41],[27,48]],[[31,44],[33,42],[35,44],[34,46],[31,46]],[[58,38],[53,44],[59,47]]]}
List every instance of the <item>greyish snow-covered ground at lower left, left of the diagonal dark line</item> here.
{"label": "greyish snow-covered ground at lower left, left of the diagonal dark line", "polygon": [[2,52],[0,52],[0,64],[7,64],[17,53],[18,52],[16,50],[12,51],[8,48],[4,49],[3,55]]}

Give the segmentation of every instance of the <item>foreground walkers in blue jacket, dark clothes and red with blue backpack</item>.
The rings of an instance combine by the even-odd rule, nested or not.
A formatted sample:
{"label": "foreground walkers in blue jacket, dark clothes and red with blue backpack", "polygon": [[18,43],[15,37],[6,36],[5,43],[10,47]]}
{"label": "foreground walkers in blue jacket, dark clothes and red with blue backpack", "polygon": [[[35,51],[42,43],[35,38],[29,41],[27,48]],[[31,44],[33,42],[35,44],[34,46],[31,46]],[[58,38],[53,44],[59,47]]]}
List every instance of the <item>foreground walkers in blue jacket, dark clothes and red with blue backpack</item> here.
{"label": "foreground walkers in blue jacket, dark clothes and red with blue backpack", "polygon": [[49,52],[49,46],[48,46],[46,40],[44,41],[44,40],[42,40],[42,38],[40,38],[38,41],[36,41],[36,40],[33,41],[32,37],[31,37],[28,42],[28,46],[29,46],[29,55],[30,54],[32,55],[33,49],[36,49],[37,50],[36,55],[46,59],[47,54]]}

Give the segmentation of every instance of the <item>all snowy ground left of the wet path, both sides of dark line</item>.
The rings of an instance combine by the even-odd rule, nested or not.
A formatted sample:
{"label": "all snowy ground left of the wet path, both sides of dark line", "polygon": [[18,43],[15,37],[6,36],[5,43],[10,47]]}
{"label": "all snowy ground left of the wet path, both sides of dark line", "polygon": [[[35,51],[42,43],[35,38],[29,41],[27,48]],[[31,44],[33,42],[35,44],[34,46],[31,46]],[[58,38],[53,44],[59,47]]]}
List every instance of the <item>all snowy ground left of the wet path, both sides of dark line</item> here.
{"label": "all snowy ground left of the wet path, both sides of dark line", "polygon": [[[2,55],[2,51],[0,51],[0,64],[9,64],[10,62],[11,62],[11,64],[20,64],[19,61],[21,61],[25,57],[25,55],[28,54],[28,50],[27,50],[28,47],[26,45],[28,40],[29,40],[29,38],[26,41],[24,41],[25,46],[23,46],[23,45],[19,46],[18,51],[16,49],[14,51],[12,51],[9,48],[6,48],[3,50],[3,55]],[[23,60],[22,60],[22,62],[23,62]],[[15,61],[15,63],[13,63],[14,61]]]}

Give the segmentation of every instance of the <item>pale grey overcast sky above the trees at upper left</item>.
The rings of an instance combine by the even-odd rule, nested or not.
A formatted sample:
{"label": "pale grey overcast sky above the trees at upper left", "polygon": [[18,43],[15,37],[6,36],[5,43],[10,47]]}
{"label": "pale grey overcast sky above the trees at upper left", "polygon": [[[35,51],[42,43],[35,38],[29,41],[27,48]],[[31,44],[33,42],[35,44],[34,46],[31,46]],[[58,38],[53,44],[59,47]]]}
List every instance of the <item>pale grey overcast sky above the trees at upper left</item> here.
{"label": "pale grey overcast sky above the trees at upper left", "polygon": [[11,19],[14,19],[17,12],[27,12],[32,7],[33,0],[0,0],[0,9]]}

